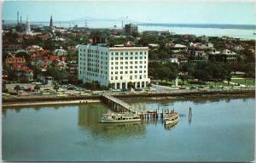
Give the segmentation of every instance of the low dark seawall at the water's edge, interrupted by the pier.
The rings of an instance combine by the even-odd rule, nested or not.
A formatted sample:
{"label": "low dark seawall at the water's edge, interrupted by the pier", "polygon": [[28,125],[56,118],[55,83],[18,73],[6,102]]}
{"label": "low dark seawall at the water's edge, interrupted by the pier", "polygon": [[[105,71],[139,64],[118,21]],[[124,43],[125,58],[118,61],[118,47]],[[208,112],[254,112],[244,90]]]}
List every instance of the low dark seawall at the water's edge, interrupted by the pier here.
{"label": "low dark seawall at the water's edge, interrupted by the pier", "polygon": [[[42,97],[23,97],[23,98],[3,98],[3,109],[23,108],[26,106],[48,106],[60,104],[86,104],[101,102],[101,95],[63,97],[63,98],[42,98]],[[177,100],[195,98],[244,98],[255,97],[254,91],[232,91],[232,92],[198,92],[198,93],[151,93],[151,94],[119,94],[114,95],[121,99],[153,99],[153,100]]]}

